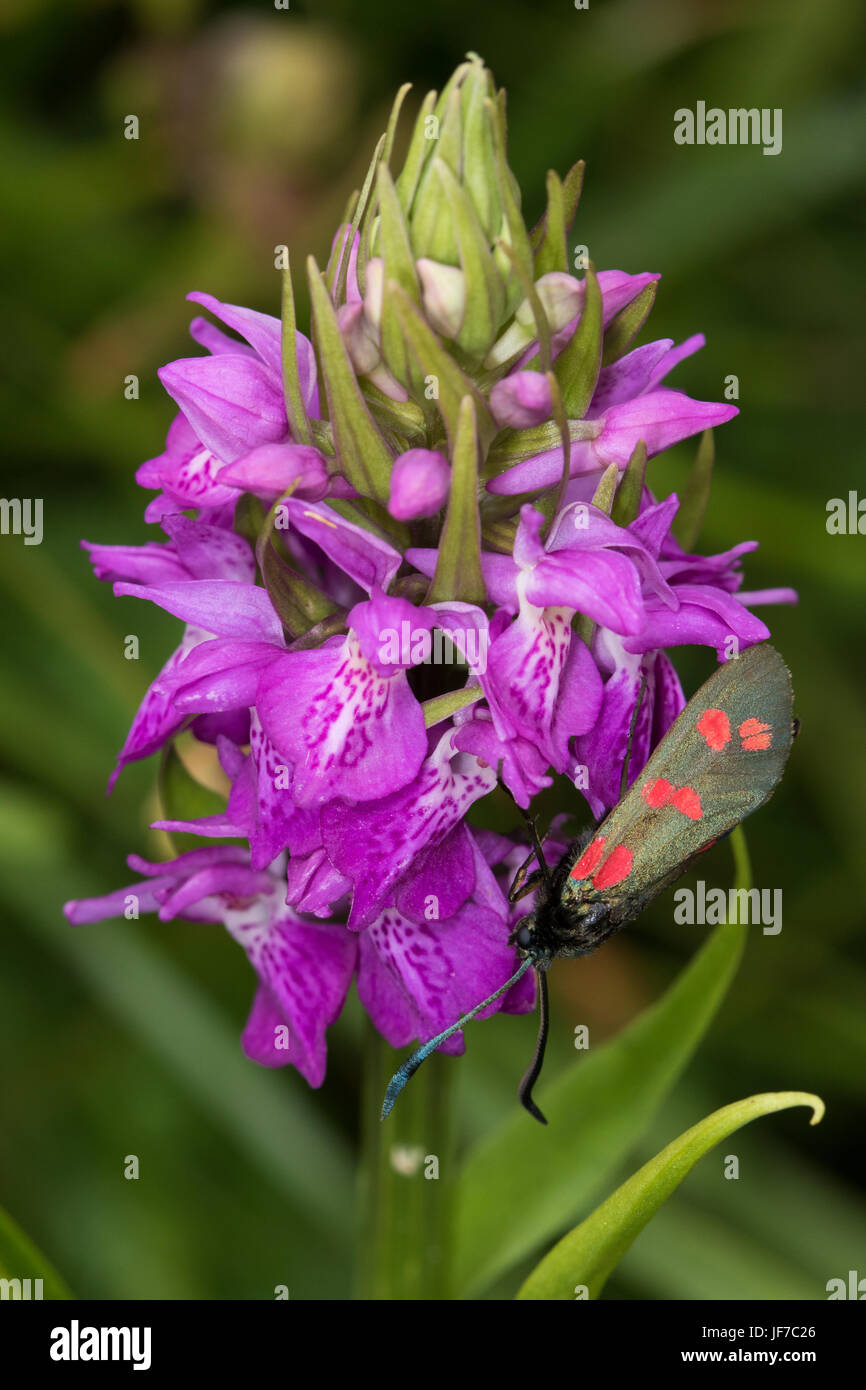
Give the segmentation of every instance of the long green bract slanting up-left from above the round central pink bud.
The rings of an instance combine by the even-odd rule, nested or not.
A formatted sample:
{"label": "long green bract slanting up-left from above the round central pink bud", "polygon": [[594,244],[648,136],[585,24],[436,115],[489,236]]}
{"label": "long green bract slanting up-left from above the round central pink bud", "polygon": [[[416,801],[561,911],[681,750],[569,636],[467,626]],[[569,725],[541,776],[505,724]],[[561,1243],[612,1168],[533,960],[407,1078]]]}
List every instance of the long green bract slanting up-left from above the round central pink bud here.
{"label": "long green bract slanting up-left from above the round central pink bud", "polygon": [[313,257],[307,261],[316,354],[328,398],[341,473],[363,496],[386,502],[392,456],[357,385],[334,304]]}

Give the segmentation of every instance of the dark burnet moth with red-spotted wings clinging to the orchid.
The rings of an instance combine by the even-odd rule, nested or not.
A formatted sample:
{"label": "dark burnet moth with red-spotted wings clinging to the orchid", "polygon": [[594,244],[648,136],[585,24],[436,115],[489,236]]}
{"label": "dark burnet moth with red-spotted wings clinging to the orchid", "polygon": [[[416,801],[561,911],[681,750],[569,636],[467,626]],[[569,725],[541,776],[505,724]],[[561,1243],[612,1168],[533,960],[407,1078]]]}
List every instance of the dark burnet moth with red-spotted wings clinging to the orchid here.
{"label": "dark burnet moth with red-spotted wings clinging to the orchid", "polygon": [[[792,702],[791,674],[778,652],[766,642],[752,646],[705,681],[628,791],[627,766],[623,769],[619,803],[594,831],[573,841],[557,865],[545,862],[535,824],[527,817],[532,851],[509,891],[512,903],[535,892],[532,910],[509,938],[521,963],[502,988],[403,1062],[388,1084],[382,1119],[441,1042],[534,969],[541,1022],[518,1097],[530,1115],[546,1125],[532,1086],[548,1037],[550,963],[557,956],[595,951],[634,922],[699,853],[770,799],[798,728]],[[635,720],[637,709],[632,733]],[[537,867],[530,872],[532,860]]]}

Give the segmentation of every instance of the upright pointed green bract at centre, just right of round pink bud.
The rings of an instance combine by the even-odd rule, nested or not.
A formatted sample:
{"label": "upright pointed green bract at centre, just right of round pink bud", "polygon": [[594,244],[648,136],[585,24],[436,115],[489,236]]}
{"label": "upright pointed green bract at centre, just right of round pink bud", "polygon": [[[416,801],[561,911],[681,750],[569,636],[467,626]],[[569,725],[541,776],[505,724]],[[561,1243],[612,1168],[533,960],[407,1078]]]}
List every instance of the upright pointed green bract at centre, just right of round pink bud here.
{"label": "upright pointed green bract at centre, just right of round pink bud", "polygon": [[478,517],[478,431],[471,396],[460,402],[452,452],[452,484],[439,541],[436,573],[428,603],[459,599],[484,603],[487,588],[481,574],[481,523]]}

